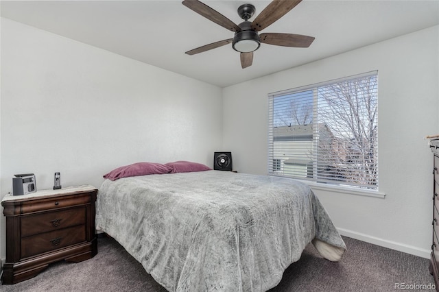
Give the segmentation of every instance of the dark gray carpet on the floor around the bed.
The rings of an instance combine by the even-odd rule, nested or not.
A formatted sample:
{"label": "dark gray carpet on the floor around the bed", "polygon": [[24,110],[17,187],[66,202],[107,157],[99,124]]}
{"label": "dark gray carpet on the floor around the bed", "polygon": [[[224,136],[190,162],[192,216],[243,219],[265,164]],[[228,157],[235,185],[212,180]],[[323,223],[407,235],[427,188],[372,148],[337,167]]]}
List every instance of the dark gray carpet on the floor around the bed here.
{"label": "dark gray carpet on the floor around the bed", "polygon": [[[291,291],[411,291],[434,284],[429,260],[344,237],[348,251],[340,263],[321,258],[308,245],[298,262],[288,267],[270,292]],[[402,284],[403,283],[403,284]],[[395,286],[396,285],[396,286]],[[421,288],[421,289],[420,289]],[[98,254],[82,263],[54,263],[35,278],[0,291],[165,291],[116,241],[98,239]]]}

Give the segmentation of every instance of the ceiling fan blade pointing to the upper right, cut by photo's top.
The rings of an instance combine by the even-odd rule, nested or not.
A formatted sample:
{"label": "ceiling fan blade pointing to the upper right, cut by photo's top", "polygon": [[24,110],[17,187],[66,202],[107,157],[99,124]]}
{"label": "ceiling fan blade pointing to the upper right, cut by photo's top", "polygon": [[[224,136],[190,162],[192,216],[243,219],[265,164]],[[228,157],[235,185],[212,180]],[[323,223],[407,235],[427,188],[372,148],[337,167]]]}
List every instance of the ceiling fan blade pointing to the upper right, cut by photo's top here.
{"label": "ceiling fan blade pointing to the upper right, cut by photo's top", "polygon": [[285,0],[273,0],[264,10],[254,19],[252,22],[252,29],[259,32],[268,25],[274,23],[282,16],[287,14],[289,10],[292,10],[302,0],[285,1]]}

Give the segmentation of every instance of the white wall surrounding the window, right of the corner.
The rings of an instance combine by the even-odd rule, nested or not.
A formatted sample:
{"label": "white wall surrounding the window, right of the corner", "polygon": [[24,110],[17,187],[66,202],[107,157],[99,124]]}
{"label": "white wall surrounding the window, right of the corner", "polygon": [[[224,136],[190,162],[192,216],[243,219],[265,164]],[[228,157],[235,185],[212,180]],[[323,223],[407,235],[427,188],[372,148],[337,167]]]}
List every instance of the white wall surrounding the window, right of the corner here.
{"label": "white wall surrounding the window, right of the corner", "polygon": [[378,70],[379,191],[318,191],[342,234],[429,256],[432,154],[439,134],[439,27],[379,42],[223,90],[224,149],[238,171],[267,173],[268,93]]}

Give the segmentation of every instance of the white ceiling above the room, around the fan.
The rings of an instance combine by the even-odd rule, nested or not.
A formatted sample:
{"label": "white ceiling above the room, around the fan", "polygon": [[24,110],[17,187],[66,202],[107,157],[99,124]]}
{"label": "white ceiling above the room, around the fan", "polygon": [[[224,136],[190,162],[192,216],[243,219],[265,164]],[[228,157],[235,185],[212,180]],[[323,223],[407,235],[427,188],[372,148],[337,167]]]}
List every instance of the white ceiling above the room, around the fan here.
{"label": "white ceiling above the room, around the fan", "polygon": [[[239,24],[239,5],[256,16],[270,1],[204,3]],[[261,44],[246,69],[231,45],[185,54],[233,32],[181,1],[1,1],[1,16],[224,87],[438,25],[439,1],[302,1],[262,32],[314,36],[311,47]]]}

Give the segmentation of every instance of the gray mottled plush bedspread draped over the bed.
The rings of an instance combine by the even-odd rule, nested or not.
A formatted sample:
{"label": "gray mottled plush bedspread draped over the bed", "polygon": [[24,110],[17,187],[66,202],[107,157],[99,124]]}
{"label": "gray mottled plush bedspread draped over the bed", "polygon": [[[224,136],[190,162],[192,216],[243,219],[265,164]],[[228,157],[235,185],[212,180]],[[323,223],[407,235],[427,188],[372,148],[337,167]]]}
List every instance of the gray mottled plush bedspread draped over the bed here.
{"label": "gray mottled plush bedspread draped over the bed", "polygon": [[96,228],[168,291],[267,291],[311,241],[346,250],[309,186],[228,171],[105,180]]}

